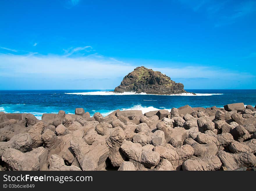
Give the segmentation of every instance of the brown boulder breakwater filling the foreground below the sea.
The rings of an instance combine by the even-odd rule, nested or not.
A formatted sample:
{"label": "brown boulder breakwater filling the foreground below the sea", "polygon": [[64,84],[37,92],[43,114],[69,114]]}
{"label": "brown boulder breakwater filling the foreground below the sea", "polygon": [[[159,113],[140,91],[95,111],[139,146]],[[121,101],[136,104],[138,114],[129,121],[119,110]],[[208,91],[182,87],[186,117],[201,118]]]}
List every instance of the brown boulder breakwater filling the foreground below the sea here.
{"label": "brown boulder breakwater filling the foreground below the sea", "polygon": [[256,170],[256,106],[0,112],[0,170]]}

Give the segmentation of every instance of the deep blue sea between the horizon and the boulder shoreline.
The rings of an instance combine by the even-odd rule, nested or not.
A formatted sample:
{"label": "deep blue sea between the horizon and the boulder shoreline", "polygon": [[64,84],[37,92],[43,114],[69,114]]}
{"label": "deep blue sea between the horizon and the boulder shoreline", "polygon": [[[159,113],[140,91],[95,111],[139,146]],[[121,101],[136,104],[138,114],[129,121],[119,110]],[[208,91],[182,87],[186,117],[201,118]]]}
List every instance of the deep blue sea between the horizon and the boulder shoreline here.
{"label": "deep blue sea between the horizon and the boulder shoreline", "polygon": [[84,108],[91,115],[106,116],[114,110],[142,110],[143,113],[159,109],[170,110],[186,104],[191,107],[223,107],[228,103],[256,104],[256,90],[186,90],[182,95],[114,94],[111,90],[0,90],[0,111],[6,113],[32,113],[38,119],[43,113],[64,110],[74,114],[75,108]]}

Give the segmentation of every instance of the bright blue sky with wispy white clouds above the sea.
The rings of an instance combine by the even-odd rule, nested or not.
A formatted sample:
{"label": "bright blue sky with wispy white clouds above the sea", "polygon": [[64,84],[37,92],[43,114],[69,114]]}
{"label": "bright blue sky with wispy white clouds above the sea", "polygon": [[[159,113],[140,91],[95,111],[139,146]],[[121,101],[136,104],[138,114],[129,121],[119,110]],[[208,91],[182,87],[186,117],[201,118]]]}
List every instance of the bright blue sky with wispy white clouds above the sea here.
{"label": "bright blue sky with wispy white clouds above the sea", "polygon": [[185,89],[256,89],[256,1],[0,3],[0,89],[114,89],[135,67]]}

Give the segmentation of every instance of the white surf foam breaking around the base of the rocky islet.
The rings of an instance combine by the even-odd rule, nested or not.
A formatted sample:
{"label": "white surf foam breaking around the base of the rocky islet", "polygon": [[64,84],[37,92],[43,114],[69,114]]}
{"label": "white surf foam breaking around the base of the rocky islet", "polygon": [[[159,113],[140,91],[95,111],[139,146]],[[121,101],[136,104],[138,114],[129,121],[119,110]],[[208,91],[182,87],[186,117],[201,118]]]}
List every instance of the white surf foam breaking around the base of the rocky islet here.
{"label": "white surf foam breaking around the base of the rocky islet", "polygon": [[[115,92],[101,92],[101,91],[97,91],[97,92],[75,92],[75,93],[65,93],[65,94],[102,95],[102,96],[106,96],[106,95],[157,95],[157,94],[146,94],[144,92],[142,92],[140,94],[136,94],[135,92],[115,93]],[[201,93],[197,93],[197,94],[194,95],[194,94],[191,94],[191,93],[181,93],[181,94],[172,94],[172,95],[165,95],[165,96],[212,96],[212,95],[223,95],[223,94],[201,94]],[[163,96],[163,95],[157,95],[157,96]],[[148,100],[144,100],[144,101],[148,101]]]}

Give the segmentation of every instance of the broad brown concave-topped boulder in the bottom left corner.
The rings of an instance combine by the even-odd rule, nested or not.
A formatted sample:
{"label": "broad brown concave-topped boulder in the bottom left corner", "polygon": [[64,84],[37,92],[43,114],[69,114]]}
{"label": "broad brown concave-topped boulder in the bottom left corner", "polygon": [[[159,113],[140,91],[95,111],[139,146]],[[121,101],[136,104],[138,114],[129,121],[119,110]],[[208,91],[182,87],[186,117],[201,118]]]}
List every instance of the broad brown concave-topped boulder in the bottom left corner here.
{"label": "broad brown concave-topped boulder in the bottom left corner", "polygon": [[26,153],[9,148],[4,151],[2,160],[10,166],[11,170],[46,170],[47,156],[48,151],[43,147]]}

